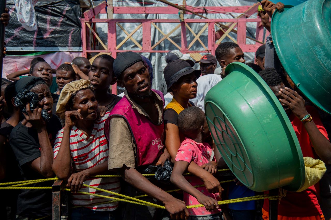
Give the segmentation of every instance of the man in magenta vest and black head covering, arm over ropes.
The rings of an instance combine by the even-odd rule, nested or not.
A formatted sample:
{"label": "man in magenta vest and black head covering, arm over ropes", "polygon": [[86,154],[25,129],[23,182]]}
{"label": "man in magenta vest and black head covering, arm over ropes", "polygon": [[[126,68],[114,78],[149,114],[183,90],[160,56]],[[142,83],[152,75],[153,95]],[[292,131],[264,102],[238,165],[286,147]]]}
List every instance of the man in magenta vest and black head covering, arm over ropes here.
{"label": "man in magenta vest and black head covering, arm over ropes", "polygon": [[[116,104],[105,123],[109,140],[108,169],[119,171],[126,182],[123,194],[147,194],[144,200],[162,202],[157,209],[133,203],[122,204],[123,219],[185,219],[189,216],[185,203],[166,193],[145,178],[138,170],[156,165],[164,157],[164,125],[162,92],[151,89],[147,66],[134,52],[120,53],[114,61],[114,73],[124,97]],[[107,131],[109,129],[109,132]]]}

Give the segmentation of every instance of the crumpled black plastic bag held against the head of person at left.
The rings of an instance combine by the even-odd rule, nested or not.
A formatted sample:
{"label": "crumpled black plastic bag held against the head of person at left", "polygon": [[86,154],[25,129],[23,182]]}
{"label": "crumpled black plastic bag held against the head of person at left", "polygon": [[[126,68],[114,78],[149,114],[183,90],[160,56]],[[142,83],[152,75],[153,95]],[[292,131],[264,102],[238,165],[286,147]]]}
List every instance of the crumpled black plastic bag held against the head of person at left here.
{"label": "crumpled black plastic bag held against the head of person at left", "polygon": [[[15,97],[15,105],[21,109],[21,111],[27,115],[26,113],[26,104],[30,103],[30,110],[33,110],[38,106],[39,97],[38,94],[35,92],[30,92],[29,90],[25,89],[23,92],[19,92]],[[48,114],[46,110],[41,110],[41,117],[48,122],[51,116]]]}

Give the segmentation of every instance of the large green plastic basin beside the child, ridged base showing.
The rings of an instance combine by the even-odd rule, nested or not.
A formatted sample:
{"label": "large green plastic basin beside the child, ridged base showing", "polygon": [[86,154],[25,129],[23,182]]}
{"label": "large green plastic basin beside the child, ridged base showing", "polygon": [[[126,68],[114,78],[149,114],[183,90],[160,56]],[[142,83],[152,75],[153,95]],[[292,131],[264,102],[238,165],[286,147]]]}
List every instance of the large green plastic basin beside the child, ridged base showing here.
{"label": "large green plastic basin beside the child, ridged base showing", "polygon": [[234,62],[225,72],[205,97],[208,126],[224,161],[254,191],[300,189],[303,156],[280,102],[249,66]]}

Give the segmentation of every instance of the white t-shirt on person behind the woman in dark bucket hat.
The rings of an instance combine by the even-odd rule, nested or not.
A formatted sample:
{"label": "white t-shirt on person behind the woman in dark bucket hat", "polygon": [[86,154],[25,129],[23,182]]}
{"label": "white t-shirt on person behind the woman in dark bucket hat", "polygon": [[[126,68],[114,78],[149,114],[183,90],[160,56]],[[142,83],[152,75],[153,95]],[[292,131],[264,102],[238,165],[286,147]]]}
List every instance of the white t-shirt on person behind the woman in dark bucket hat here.
{"label": "white t-shirt on person behind the woman in dark bucket hat", "polygon": [[207,92],[215,86],[219,81],[221,81],[221,77],[215,74],[207,74],[204,76],[200,76],[197,79],[198,83],[198,93],[197,97],[190,99],[193,104],[203,111],[205,111],[205,96]]}

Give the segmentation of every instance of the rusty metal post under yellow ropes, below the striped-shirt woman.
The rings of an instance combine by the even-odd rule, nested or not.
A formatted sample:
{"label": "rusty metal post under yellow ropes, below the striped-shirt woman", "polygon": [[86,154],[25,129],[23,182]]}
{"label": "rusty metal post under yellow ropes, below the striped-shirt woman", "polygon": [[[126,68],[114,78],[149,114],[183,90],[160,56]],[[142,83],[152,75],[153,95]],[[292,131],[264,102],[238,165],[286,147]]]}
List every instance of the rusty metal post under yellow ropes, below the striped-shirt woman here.
{"label": "rusty metal post under yellow ropes, below the striped-shirt woman", "polygon": [[62,192],[62,188],[66,186],[64,180],[55,180],[52,186],[53,194],[53,220],[66,220],[69,216],[68,196]]}

